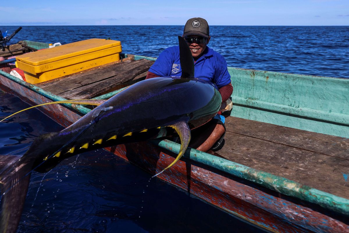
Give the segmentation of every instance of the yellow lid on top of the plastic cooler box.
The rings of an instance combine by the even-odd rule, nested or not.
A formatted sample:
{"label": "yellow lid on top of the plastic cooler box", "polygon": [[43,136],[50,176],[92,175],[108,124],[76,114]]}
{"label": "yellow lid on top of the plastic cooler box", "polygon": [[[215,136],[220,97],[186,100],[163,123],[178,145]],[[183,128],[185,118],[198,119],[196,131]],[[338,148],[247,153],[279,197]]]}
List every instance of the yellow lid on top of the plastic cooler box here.
{"label": "yellow lid on top of the plastic cooler box", "polygon": [[[121,52],[120,41],[87,39],[50,49],[26,53],[17,56],[16,60],[18,64],[23,66],[22,70],[33,74],[69,65],[64,61],[69,61],[70,64],[76,64],[118,52]],[[20,67],[21,65],[18,66]]]}

